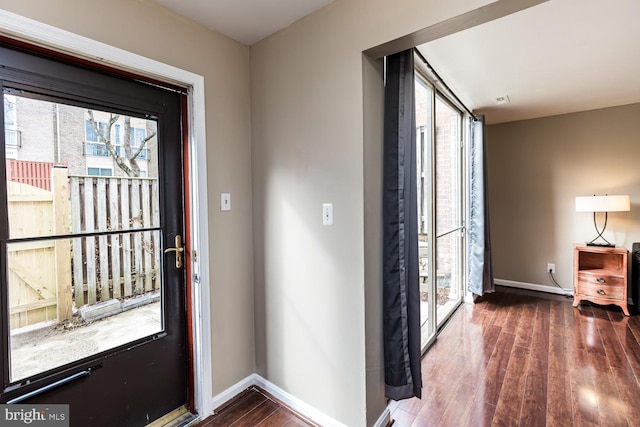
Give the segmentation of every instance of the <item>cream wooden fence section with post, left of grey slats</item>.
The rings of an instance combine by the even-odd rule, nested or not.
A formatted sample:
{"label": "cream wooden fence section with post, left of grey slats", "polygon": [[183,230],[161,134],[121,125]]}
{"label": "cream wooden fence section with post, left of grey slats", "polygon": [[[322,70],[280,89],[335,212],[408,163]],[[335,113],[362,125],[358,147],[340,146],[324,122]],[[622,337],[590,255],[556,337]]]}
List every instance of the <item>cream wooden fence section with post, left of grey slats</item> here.
{"label": "cream wooden fence section with post, left of grey slats", "polygon": [[[49,187],[54,191],[7,182],[11,238],[67,233],[67,169],[49,170]],[[11,329],[71,317],[71,248],[67,239],[10,243],[7,264]]]}

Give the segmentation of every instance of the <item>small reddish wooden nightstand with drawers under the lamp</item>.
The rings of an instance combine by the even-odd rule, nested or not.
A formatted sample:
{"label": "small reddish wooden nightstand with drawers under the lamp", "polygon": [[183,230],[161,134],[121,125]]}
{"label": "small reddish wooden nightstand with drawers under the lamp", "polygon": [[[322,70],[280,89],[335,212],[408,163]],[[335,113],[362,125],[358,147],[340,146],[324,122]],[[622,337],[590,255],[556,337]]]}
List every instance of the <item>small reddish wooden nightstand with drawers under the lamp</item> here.
{"label": "small reddish wooden nightstand with drawers under the lamp", "polygon": [[628,316],[627,258],[625,248],[575,245],[573,306],[583,300],[614,304]]}

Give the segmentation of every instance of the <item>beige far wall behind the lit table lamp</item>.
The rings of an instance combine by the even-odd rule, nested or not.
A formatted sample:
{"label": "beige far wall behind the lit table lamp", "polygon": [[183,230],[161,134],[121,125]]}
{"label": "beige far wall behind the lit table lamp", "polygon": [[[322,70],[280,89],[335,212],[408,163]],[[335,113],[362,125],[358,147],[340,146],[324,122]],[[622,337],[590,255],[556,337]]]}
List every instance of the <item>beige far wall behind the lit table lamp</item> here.
{"label": "beige far wall behind the lit table lamp", "polygon": [[[605,237],[631,250],[640,241],[640,104],[488,127],[495,277],[573,287],[573,244],[596,236],[575,197],[629,194],[631,212],[609,214]],[[601,223],[600,223],[601,224]]]}

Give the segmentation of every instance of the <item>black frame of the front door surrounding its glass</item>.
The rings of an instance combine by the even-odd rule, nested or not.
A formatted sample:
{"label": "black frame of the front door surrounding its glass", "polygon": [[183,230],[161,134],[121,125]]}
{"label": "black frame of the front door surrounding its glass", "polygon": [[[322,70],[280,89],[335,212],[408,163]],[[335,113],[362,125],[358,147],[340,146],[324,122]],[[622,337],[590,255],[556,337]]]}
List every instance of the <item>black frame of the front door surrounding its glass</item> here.
{"label": "black frame of the front door surrounding its glass", "polygon": [[[177,209],[177,215],[168,215],[167,212],[161,215],[163,230],[169,230],[169,234],[164,235],[163,240],[172,242],[176,234],[185,234],[184,212],[181,208],[183,204],[182,168],[176,170],[175,166],[169,163],[169,161],[175,162],[182,158],[181,123],[180,121],[175,123],[176,120],[169,119],[170,117],[180,117],[182,111],[182,100],[177,92],[160,90],[146,83],[134,82],[122,77],[107,76],[103,72],[83,69],[77,65],[69,65],[58,60],[45,59],[31,53],[19,52],[4,47],[0,48],[0,58],[2,58],[3,64],[3,68],[0,70],[3,86],[23,90],[30,93],[30,96],[34,98],[58,100],[60,102],[68,101],[74,105],[90,108],[113,108],[115,111],[122,111],[123,103],[121,99],[127,99],[126,108],[131,109],[127,113],[135,114],[137,112],[141,117],[144,114],[151,113],[158,117],[159,133],[166,136],[168,140],[176,141],[175,144],[159,144],[158,149],[162,150],[160,158],[166,160],[164,163],[158,164],[160,174],[161,176],[168,176],[169,172],[173,172],[178,175],[170,180],[170,182],[173,182],[172,185],[163,186],[161,184],[160,206],[171,205]],[[5,164],[4,162],[1,163],[0,173],[4,173]],[[6,200],[4,202],[6,203]],[[0,221],[0,236],[4,236],[4,238],[9,236],[6,217]],[[165,246],[168,246],[168,244],[165,243]],[[0,255],[6,256],[5,249],[6,245],[3,244],[2,249],[0,249]],[[184,311],[187,305],[185,301],[184,271],[173,268],[171,262],[164,262],[163,270],[165,283],[178,284],[177,287],[172,286],[164,289],[165,293],[171,293],[171,297],[165,299],[164,305],[166,310],[170,311],[172,318],[176,319],[177,323],[175,325],[169,325],[164,332],[150,338],[135,341],[132,345],[128,345],[127,348],[119,348],[115,351],[91,357],[73,366],[67,365],[60,369],[52,370],[47,374],[37,375],[30,382],[18,381],[11,383],[9,381],[7,369],[8,350],[6,350],[3,352],[2,358],[2,364],[5,368],[3,369],[4,393],[1,400],[3,402],[11,401],[17,396],[45,387],[48,384],[57,383],[70,377],[77,377],[75,381],[69,382],[63,389],[55,393],[48,392],[33,397],[25,403],[67,403],[73,402],[81,394],[93,395],[96,398],[102,396],[107,401],[110,401],[110,404],[116,405],[116,408],[121,408],[121,412],[115,415],[116,419],[114,421],[116,423],[128,424],[135,422],[138,424],[143,421],[141,414],[136,414],[135,411],[129,410],[131,406],[127,405],[127,400],[130,401],[134,398],[144,400],[144,396],[134,391],[133,385],[137,383],[136,387],[144,389],[145,383],[149,382],[149,378],[141,380],[140,378],[129,377],[123,384],[118,383],[113,373],[123,372],[132,364],[135,366],[140,359],[140,354],[136,353],[146,352],[147,357],[150,358],[149,362],[152,362],[146,365],[146,368],[150,371],[153,370],[154,364],[158,365],[160,359],[164,357],[167,360],[171,360],[171,364],[174,367],[174,369],[170,370],[171,372],[155,372],[155,375],[151,375],[150,378],[157,378],[158,381],[164,383],[168,381],[176,390],[184,390],[183,397],[179,396],[181,392],[178,391],[171,398],[167,396],[164,399],[165,402],[162,402],[163,395],[153,395],[153,387],[146,387],[149,396],[153,396],[146,403],[147,422],[149,417],[151,420],[159,418],[165,415],[166,412],[176,409],[180,404],[186,403],[188,399],[186,383],[189,371],[187,370],[188,348],[186,312]],[[2,276],[4,278],[3,283],[6,283],[6,266],[4,266]],[[7,300],[6,292],[6,287],[2,287],[0,298],[3,301]],[[166,304],[167,302],[171,302],[171,304]],[[3,305],[3,318],[8,319],[6,313],[7,305]],[[4,336],[8,336],[9,331],[6,321],[1,323],[1,328]],[[117,355],[115,359],[112,358],[114,355]],[[147,359],[145,358],[144,360],[146,361]],[[138,369],[142,368],[143,365],[140,365]],[[103,366],[105,367],[104,369],[98,369]],[[109,367],[108,369],[107,366]],[[182,366],[184,370],[180,369]],[[93,379],[88,379],[89,375],[82,375],[82,373],[90,373]],[[101,383],[102,386],[95,387],[96,383]],[[103,388],[105,385],[107,387]],[[116,393],[114,390],[118,390],[118,392]],[[85,422],[91,421],[92,425],[98,425],[102,417],[114,412],[110,408],[101,414],[100,405],[87,407],[86,409],[84,406],[76,405],[75,408],[72,408],[72,422],[73,419],[82,419]],[[105,407],[109,408],[110,405]],[[154,413],[153,411],[160,412]]]}

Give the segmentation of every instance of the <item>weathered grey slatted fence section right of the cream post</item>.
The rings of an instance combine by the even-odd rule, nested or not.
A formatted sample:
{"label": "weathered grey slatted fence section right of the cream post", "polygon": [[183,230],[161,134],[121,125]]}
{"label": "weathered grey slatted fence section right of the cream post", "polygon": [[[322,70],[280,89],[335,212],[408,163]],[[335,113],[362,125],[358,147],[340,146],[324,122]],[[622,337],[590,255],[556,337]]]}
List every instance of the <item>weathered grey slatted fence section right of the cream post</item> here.
{"label": "weathered grey slatted fence section right of the cream post", "polygon": [[121,233],[72,239],[76,307],[158,289],[156,179],[70,176],[71,231]]}

